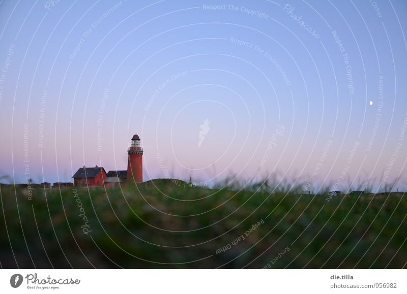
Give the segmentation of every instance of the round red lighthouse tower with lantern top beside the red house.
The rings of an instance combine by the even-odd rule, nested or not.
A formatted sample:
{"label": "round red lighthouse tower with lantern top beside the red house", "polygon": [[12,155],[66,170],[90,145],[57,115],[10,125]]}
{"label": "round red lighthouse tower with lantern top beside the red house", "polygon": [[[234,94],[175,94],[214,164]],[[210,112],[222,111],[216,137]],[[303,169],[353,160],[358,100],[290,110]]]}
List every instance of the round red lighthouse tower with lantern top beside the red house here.
{"label": "round red lighthouse tower with lantern top beside the red house", "polygon": [[143,181],[143,148],[141,148],[137,134],[131,138],[131,146],[127,149],[127,154],[129,154],[127,181],[141,183]]}

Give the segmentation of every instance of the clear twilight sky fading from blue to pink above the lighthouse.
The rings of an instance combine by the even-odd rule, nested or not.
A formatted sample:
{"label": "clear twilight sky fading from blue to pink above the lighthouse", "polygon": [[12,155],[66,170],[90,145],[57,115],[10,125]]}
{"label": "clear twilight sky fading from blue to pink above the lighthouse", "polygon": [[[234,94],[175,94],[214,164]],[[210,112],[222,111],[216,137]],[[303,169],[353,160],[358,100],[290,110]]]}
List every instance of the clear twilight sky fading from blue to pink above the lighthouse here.
{"label": "clear twilight sky fading from blue to pink above the lighthouse", "polygon": [[2,1],[1,181],[127,169],[137,133],[144,180],[405,189],[406,13],[404,0]]}

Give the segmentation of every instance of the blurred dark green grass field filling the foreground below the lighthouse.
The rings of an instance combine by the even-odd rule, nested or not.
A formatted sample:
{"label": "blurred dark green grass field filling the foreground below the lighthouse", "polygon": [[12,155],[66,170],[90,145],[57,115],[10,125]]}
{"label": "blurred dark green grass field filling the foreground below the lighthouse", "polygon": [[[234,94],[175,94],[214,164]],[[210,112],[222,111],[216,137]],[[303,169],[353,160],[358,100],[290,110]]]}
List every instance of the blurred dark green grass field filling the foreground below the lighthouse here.
{"label": "blurred dark green grass field filling the foreground below the lighthouse", "polygon": [[1,266],[405,268],[404,193],[329,200],[287,183],[273,193],[270,183],[184,183],[35,188],[32,200],[22,186],[1,185]]}

